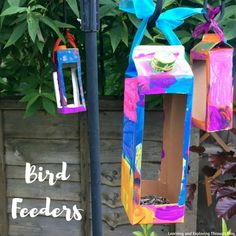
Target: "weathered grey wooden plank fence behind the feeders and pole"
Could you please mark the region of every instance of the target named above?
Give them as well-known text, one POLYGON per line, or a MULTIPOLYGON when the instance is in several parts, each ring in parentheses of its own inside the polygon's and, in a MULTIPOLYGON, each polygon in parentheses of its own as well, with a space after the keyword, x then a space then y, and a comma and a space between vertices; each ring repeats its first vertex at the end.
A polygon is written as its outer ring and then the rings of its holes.
MULTIPOLYGON (((0 235, 1 236, 87 236, 90 235, 89 153, 87 144, 86 113, 55 116, 43 111, 23 119, 24 107, 15 100, 0 101, 0 235), (68 181, 59 181, 54 187, 48 182, 26 185, 25 163, 30 162, 54 173, 61 163, 68 163, 68 181), (52 199, 52 208, 74 204, 84 209, 83 220, 65 220, 38 216, 36 218, 11 217, 13 198, 23 198, 23 206, 45 207, 45 198, 52 199), (5 214, 4 214, 5 213, 5 214)), ((137 227, 131 226, 120 203, 120 157, 122 147, 122 101, 107 100, 100 103, 102 206, 105 236, 132 235, 137 227)), ((193 141, 198 140, 197 132, 193 141)), ((148 111, 145 117, 143 151, 144 178, 158 175, 162 142, 162 113, 148 111)), ((197 182, 198 158, 191 162, 196 172, 190 180, 197 182)), ((193 212, 188 213, 186 224, 176 230, 196 229, 197 195, 193 212)), ((175 227, 155 226, 158 236, 167 235, 175 227)))

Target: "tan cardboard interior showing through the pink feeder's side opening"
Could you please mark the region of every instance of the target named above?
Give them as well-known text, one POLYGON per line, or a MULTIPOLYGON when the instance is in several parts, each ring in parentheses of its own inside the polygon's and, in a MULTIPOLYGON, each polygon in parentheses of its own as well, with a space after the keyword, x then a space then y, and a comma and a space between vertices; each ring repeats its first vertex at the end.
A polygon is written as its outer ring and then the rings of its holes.
POLYGON ((193 61, 194 73, 193 118, 205 121, 207 104, 207 67, 206 61, 193 61))

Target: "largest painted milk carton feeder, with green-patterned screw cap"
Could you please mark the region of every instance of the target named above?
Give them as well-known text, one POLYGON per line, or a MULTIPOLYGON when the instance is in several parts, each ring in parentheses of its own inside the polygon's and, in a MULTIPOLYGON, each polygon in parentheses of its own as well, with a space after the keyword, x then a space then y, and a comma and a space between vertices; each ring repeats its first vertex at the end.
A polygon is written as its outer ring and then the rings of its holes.
POLYGON ((137 75, 125 79, 121 200, 131 224, 181 223, 188 175, 193 73, 183 46, 138 46, 133 61, 137 75), (159 179, 143 180, 145 97, 154 94, 164 96, 161 168, 159 179), (166 201, 161 205, 143 204, 146 196, 166 201))

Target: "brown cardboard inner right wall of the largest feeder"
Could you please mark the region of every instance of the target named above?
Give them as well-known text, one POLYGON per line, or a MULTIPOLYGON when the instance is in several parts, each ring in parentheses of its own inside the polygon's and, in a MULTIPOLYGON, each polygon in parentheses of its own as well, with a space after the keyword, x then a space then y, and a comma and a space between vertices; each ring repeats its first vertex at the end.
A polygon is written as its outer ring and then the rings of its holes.
POLYGON ((162 176, 164 175, 168 199, 171 202, 177 202, 180 194, 186 99, 186 95, 177 94, 166 95, 164 98, 163 146, 165 157, 161 164, 160 181, 163 182, 162 176))

